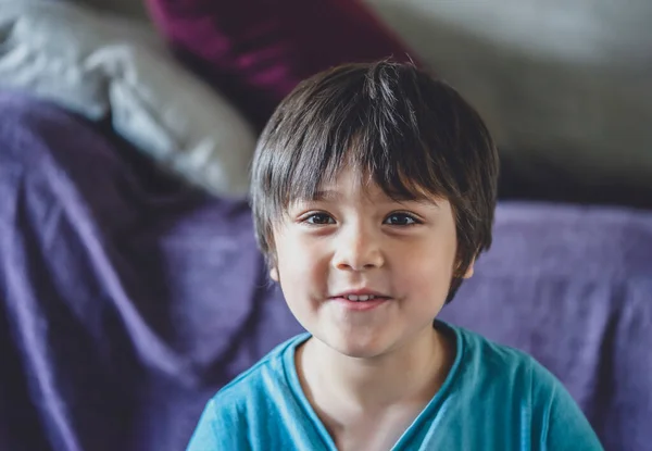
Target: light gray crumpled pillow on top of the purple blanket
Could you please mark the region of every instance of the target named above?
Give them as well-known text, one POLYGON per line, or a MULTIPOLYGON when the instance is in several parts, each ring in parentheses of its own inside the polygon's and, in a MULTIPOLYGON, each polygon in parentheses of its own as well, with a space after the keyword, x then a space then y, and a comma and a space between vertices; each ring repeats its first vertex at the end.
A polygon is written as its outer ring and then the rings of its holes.
POLYGON ((0 9, 0 88, 27 91, 115 130, 191 183, 243 196, 255 135, 186 72, 146 23, 74 3, 13 0, 0 9))

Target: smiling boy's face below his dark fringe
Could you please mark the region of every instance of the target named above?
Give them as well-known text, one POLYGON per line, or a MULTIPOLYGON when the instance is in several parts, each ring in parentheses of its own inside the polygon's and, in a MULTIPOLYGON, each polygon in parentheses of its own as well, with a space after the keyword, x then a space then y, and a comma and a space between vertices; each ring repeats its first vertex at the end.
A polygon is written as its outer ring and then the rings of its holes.
POLYGON ((272 277, 297 320, 356 358, 429 337, 456 263, 450 203, 392 201, 350 171, 321 189, 321 199, 290 204, 274 229, 272 277))

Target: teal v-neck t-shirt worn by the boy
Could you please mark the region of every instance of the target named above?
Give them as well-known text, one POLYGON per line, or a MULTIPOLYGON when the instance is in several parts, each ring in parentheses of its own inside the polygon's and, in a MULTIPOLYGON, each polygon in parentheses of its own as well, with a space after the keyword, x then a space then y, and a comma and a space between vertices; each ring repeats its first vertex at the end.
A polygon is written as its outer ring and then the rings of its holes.
MULTIPOLYGON (((602 450, 562 384, 529 355, 437 322, 456 356, 440 390, 392 448, 413 450, 602 450)), ((273 350, 209 401, 189 451, 336 451, 310 405, 294 351, 273 350)))

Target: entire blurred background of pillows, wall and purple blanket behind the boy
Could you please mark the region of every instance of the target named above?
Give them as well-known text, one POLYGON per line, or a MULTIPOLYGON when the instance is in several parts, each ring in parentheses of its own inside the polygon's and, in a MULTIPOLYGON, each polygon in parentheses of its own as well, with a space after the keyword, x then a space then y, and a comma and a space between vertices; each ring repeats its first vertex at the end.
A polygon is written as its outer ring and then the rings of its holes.
POLYGON ((0 449, 183 449, 301 330, 247 204, 301 79, 413 60, 501 153, 442 318, 523 349, 607 450, 652 443, 652 2, 0 0, 0 449))

